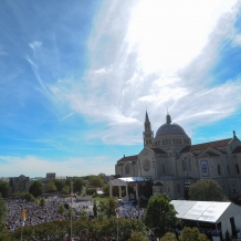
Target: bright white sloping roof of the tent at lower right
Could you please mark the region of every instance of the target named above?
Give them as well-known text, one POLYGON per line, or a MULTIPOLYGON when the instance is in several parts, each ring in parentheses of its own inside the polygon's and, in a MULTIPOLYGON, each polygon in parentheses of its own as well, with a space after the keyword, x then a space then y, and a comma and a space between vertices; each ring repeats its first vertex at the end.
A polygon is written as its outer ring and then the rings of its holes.
POLYGON ((170 203, 179 219, 216 223, 241 214, 241 207, 232 202, 172 200, 170 203))

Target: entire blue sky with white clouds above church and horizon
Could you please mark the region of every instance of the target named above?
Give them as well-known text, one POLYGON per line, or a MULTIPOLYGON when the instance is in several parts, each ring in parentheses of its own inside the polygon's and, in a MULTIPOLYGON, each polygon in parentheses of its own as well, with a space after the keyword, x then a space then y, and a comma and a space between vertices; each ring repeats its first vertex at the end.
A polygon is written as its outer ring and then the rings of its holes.
POLYGON ((241 1, 0 2, 0 177, 114 174, 154 133, 241 138, 241 1))

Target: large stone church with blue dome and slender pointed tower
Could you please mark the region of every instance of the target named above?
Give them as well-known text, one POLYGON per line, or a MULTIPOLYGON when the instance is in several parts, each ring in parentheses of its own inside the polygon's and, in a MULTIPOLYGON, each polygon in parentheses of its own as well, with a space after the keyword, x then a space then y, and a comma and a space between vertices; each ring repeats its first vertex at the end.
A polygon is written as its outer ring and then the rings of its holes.
POLYGON ((146 113, 143 138, 144 149, 119 159, 115 175, 150 179, 154 195, 166 192, 170 199, 187 199, 189 186, 199 179, 216 180, 226 197, 241 196, 241 142, 235 132, 232 138, 191 145, 169 114, 154 136, 146 113))

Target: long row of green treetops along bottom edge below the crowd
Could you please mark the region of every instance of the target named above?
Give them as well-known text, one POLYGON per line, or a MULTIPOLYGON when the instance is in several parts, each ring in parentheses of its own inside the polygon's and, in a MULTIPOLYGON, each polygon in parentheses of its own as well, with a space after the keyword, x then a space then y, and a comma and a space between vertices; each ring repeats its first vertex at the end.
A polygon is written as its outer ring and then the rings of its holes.
MULTIPOLYGON (((115 218, 105 221, 73 221, 73 235, 88 237, 90 240, 97 237, 98 240, 104 240, 104 237, 116 233, 116 227, 117 220, 115 218)), ((142 232, 143 234, 146 232, 146 227, 138 220, 119 219, 118 228, 119 241, 128 240, 133 231, 142 232)), ((63 240, 65 233, 70 235, 70 221, 53 221, 34 227, 24 227, 23 240, 31 240, 33 235, 36 240, 41 240, 49 235, 51 241, 59 241, 63 240)), ((11 241, 20 240, 21 229, 9 233, 9 237, 11 241)))

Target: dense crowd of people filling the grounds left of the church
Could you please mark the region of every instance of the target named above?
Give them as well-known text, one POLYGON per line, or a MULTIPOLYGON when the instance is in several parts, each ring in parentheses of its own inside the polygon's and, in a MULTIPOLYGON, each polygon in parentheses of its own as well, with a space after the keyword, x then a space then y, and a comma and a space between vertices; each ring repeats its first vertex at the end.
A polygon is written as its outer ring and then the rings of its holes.
MULTIPOLYGON (((93 201, 76 202, 75 200, 71 201, 70 198, 52 197, 46 199, 44 207, 21 199, 9 199, 6 202, 8 209, 7 227, 10 232, 15 231, 23 224, 22 207, 24 207, 27 217, 24 226, 36 226, 43 222, 70 219, 66 213, 61 214, 57 212, 61 205, 64 207, 73 207, 73 219, 80 219, 83 210, 88 214, 90 219, 94 218, 93 201)), ((119 206, 118 218, 142 219, 144 214, 145 210, 143 208, 134 207, 132 203, 123 203, 119 206)))

